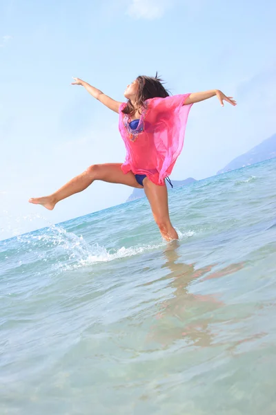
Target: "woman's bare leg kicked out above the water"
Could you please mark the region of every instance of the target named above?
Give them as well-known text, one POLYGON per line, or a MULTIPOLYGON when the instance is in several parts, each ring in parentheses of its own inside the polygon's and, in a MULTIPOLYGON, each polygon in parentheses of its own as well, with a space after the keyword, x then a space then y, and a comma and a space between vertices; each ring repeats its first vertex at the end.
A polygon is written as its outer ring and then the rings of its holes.
POLYGON ((121 163, 107 163, 92 165, 85 172, 79 174, 79 176, 72 178, 66 185, 57 190, 57 192, 49 196, 32 198, 29 202, 35 205, 43 205, 46 209, 53 210, 57 202, 66 199, 66 197, 72 194, 82 192, 95 180, 142 188, 137 183, 135 175, 132 172, 128 172, 127 174, 122 172, 121 163))

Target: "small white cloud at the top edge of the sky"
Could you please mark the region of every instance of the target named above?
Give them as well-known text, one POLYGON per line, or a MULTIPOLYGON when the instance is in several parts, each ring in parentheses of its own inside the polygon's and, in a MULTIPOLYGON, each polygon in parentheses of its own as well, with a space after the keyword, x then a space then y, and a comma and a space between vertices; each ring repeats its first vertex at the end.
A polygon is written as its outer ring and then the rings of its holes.
POLYGON ((127 13, 134 19, 154 20, 162 17, 172 6, 172 0, 132 0, 127 13))

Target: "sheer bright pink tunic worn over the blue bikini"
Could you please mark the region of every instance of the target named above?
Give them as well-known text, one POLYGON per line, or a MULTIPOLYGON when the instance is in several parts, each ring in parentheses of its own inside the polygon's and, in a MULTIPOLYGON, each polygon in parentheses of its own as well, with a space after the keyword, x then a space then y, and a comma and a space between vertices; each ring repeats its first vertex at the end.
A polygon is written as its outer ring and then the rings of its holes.
POLYGON ((188 113, 192 104, 183 105, 190 94, 151 98, 137 129, 129 126, 130 116, 119 108, 119 131, 126 145, 126 160, 121 169, 124 174, 146 174, 156 185, 164 185, 181 153, 188 113))

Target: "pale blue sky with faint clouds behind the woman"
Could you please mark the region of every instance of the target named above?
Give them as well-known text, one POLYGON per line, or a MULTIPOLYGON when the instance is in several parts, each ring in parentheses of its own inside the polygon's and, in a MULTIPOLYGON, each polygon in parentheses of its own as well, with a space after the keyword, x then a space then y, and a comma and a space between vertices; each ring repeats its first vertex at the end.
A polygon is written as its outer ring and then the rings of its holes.
POLYGON ((214 175, 276 131, 275 1, 101 0, 0 3, 0 239, 124 202, 132 189, 94 183, 54 211, 30 205, 93 163, 123 162, 116 100, 159 71, 172 93, 221 89, 190 111, 172 179, 214 175))

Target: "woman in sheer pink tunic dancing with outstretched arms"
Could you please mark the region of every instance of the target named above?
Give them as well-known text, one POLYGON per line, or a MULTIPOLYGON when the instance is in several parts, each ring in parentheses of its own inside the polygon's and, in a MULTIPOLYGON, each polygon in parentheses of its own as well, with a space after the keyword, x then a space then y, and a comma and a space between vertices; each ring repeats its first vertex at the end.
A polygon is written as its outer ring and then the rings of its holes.
POLYGON ((119 113, 119 130, 127 152, 125 163, 91 165, 57 192, 29 202, 52 210, 57 202, 82 192, 95 180, 144 187, 162 237, 166 241, 178 239, 170 223, 165 179, 183 147, 190 107, 215 95, 222 106, 224 100, 235 106, 235 100, 219 90, 170 96, 156 75, 137 77, 124 92, 128 102, 122 103, 79 78, 74 80, 72 85, 84 86, 92 97, 119 113))

